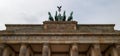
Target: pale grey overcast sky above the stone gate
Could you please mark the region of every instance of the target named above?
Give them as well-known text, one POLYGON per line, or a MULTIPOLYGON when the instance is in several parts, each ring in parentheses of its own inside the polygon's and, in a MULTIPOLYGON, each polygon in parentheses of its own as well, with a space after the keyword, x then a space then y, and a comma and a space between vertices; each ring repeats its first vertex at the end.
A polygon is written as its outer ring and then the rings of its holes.
POLYGON ((73 11, 79 24, 116 24, 120 30, 120 0, 0 0, 0 29, 4 24, 42 24, 58 5, 67 15, 73 11))

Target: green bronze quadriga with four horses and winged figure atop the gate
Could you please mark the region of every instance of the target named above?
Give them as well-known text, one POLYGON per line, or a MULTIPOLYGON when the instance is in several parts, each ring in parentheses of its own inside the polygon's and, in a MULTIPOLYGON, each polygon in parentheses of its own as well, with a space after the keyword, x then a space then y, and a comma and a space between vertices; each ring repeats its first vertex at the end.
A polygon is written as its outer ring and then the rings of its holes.
POLYGON ((68 19, 66 19, 66 11, 63 12, 63 15, 61 15, 61 13, 60 13, 61 12, 61 7, 62 6, 57 6, 59 14, 56 11, 54 18, 51 15, 51 13, 48 12, 49 21, 72 21, 73 20, 73 12, 71 12, 70 16, 68 17, 68 19))

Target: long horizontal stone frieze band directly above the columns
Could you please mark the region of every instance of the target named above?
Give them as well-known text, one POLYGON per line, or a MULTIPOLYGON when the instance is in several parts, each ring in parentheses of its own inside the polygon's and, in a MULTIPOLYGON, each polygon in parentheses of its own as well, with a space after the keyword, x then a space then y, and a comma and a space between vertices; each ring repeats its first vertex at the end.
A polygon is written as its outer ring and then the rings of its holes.
POLYGON ((120 43, 120 36, 1 36, 0 43, 120 43))

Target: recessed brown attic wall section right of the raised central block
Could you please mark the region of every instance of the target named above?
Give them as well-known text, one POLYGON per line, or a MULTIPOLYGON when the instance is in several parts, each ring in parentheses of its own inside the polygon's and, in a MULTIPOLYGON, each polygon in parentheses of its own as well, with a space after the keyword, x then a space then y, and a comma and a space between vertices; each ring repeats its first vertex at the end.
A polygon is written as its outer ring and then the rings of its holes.
POLYGON ((80 32, 114 32, 114 24, 79 24, 80 32))

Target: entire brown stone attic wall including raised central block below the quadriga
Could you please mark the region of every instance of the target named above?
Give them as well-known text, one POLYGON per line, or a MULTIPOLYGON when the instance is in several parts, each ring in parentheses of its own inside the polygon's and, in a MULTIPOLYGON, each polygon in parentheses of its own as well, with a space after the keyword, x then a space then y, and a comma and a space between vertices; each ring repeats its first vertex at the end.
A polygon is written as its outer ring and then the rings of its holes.
POLYGON ((114 24, 77 24, 70 22, 48 22, 41 24, 6 24, 6 30, 42 30, 42 31, 74 31, 74 32, 115 32, 114 24))

